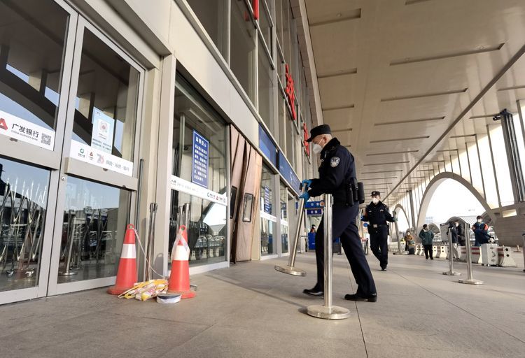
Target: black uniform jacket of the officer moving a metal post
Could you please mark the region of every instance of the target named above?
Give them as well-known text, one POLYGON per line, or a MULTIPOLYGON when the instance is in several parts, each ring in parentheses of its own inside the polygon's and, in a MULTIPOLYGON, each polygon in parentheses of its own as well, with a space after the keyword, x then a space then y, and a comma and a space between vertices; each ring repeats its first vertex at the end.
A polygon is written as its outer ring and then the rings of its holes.
POLYGON ((308 194, 332 194, 334 203, 346 203, 346 186, 351 178, 356 178, 353 155, 337 138, 332 138, 321 150, 319 178, 311 180, 308 194))

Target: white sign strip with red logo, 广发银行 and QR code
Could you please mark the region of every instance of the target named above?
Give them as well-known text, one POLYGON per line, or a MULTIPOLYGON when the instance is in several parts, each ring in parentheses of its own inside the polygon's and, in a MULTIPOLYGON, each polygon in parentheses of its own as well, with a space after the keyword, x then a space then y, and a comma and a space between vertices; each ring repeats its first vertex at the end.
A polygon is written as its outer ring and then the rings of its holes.
POLYGON ((22 120, 3 110, 0 110, 0 134, 47 150, 55 148, 55 131, 22 120))

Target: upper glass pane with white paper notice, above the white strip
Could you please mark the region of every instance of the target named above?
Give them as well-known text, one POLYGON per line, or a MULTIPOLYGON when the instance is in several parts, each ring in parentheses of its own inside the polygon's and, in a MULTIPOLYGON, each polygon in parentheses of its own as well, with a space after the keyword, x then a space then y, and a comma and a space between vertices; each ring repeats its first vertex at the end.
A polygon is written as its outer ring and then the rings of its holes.
POLYGON ((73 141, 133 161, 139 71, 85 29, 73 141))

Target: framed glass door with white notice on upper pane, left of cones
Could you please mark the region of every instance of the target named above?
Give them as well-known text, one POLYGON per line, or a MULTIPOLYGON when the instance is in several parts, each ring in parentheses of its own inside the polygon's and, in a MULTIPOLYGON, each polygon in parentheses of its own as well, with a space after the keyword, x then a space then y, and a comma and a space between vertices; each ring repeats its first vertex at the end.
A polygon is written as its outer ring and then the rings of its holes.
POLYGON ((138 186, 144 69, 78 18, 49 294, 112 285, 138 186))

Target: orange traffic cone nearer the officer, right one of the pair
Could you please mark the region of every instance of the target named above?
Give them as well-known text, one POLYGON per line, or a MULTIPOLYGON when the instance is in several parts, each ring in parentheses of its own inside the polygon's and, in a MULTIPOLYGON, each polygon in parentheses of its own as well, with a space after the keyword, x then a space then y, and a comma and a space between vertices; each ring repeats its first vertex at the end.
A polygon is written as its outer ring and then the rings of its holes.
POLYGON ((181 294, 182 299, 195 297, 195 292, 190 289, 189 258, 188 231, 181 225, 172 249, 172 273, 169 275, 168 293, 181 294))

